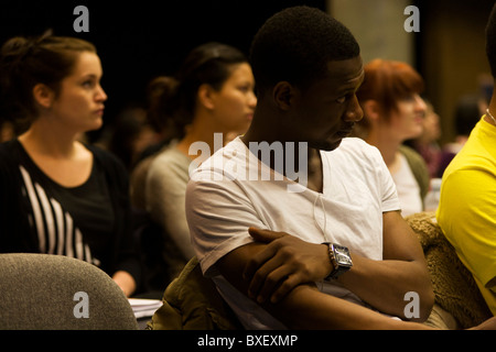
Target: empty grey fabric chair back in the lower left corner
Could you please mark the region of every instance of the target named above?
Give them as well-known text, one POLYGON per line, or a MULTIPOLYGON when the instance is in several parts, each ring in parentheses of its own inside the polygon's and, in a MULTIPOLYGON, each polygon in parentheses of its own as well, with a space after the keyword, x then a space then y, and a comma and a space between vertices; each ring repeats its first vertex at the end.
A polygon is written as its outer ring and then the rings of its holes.
POLYGON ((62 255, 0 254, 0 329, 136 330, 132 308, 98 267, 62 255))

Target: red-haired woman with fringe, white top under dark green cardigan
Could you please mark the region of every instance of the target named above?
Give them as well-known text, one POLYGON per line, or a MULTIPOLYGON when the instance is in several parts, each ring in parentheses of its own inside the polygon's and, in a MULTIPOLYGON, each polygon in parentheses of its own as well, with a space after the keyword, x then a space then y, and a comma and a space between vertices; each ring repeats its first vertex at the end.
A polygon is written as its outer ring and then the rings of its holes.
POLYGON ((364 119, 356 133, 380 151, 395 180, 403 217, 424 209, 429 190, 425 162, 402 144, 422 133, 427 110, 422 90, 422 77, 408 64, 374 59, 365 66, 365 79, 357 91, 364 119))

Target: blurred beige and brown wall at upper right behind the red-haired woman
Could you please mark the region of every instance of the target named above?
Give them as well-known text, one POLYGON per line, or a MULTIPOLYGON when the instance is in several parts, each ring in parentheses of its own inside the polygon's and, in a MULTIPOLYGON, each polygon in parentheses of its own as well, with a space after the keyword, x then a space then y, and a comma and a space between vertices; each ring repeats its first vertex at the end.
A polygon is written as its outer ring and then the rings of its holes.
POLYGON ((327 0, 327 9, 357 37, 364 62, 403 61, 425 79, 425 97, 440 114, 442 142, 454 138, 455 106, 464 95, 488 95, 493 79, 484 30, 493 0, 327 0), (420 14, 420 32, 403 29, 408 6, 420 14), (489 79, 488 79, 489 78, 489 79))

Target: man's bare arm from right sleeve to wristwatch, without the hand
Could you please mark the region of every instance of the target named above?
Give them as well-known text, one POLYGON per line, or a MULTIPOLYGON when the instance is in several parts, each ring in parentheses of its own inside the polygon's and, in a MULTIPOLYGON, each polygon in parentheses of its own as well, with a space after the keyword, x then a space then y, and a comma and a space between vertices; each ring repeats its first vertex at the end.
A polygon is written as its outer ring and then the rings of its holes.
POLYGON ((418 294, 419 319, 424 321, 434 304, 434 293, 422 248, 400 212, 382 215, 382 261, 370 261, 354 255, 354 267, 343 275, 341 282, 362 300, 374 308, 402 319, 405 295, 418 294))

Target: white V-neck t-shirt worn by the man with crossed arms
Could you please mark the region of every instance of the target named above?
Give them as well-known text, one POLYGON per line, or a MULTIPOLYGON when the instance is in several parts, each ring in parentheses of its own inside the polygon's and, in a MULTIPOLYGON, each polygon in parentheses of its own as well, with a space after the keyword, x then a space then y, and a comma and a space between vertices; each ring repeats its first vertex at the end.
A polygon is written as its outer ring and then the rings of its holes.
MULTIPOLYGON (((345 139, 336 150, 321 152, 321 158, 322 194, 270 169, 239 138, 191 175, 186 217, 196 255, 247 329, 284 328, 216 270, 220 257, 252 242, 249 227, 284 231, 312 243, 335 242, 382 260, 382 212, 400 207, 379 151, 360 139, 345 139), (260 175, 268 174, 271 179, 262 180, 260 175)), ((365 306, 337 283, 319 287, 365 306)))

